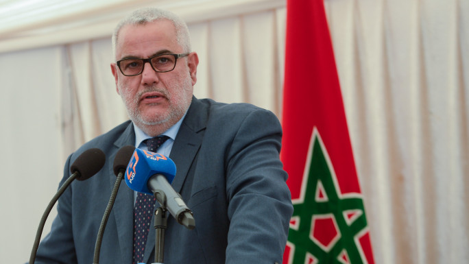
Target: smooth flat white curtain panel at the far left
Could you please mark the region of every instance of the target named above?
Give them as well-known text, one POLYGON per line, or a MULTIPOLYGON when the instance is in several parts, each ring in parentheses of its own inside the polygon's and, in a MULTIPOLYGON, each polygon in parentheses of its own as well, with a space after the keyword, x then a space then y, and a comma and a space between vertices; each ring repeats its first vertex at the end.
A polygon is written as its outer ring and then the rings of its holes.
POLYGON ((63 58, 62 47, 0 54, 1 263, 29 260, 61 178, 63 58))

